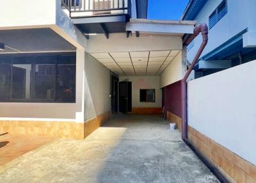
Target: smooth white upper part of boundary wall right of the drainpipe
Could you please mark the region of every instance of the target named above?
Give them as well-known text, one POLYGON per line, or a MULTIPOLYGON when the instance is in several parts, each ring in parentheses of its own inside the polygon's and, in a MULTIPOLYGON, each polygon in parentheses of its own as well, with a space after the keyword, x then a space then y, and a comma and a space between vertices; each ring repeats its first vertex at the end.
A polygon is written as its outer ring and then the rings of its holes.
POLYGON ((188 83, 188 124, 256 164, 256 61, 188 83))

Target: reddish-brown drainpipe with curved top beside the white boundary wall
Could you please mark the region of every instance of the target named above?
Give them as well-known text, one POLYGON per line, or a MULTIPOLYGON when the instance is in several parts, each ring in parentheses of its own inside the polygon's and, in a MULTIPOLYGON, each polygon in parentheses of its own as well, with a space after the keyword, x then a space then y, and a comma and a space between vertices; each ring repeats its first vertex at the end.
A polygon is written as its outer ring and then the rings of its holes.
POLYGON ((207 24, 196 24, 194 28, 194 33, 191 35, 188 40, 186 40, 184 45, 189 45, 199 33, 203 36, 203 42, 196 53, 194 60, 192 61, 191 65, 189 66, 184 78, 181 81, 181 95, 182 95, 182 139, 188 138, 188 122, 187 122, 187 79, 189 74, 195 67, 196 62, 198 61, 200 55, 204 51, 205 46, 208 42, 208 26, 207 24))

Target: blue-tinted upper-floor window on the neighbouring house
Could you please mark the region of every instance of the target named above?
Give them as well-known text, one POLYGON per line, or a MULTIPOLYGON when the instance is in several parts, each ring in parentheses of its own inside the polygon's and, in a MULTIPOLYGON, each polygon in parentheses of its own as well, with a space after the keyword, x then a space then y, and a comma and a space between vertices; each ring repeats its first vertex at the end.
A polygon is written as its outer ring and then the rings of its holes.
POLYGON ((227 14, 227 0, 224 0, 220 5, 211 13, 209 17, 209 29, 213 28, 218 21, 227 14))

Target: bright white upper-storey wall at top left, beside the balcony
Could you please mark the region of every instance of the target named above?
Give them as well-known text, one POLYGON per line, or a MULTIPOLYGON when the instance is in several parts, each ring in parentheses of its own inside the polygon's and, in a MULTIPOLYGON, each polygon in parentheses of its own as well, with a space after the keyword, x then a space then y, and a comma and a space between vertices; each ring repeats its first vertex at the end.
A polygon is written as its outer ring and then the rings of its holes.
POLYGON ((3 1, 0 17, 0 29, 51 28, 77 48, 86 47, 83 34, 62 10, 61 0, 3 1))

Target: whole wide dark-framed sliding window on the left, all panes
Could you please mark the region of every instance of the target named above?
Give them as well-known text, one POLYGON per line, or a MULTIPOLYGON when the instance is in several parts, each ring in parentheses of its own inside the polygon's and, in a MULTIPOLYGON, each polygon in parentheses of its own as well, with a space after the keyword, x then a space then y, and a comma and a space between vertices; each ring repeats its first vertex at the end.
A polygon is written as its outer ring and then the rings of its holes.
POLYGON ((75 102, 76 55, 0 56, 2 102, 75 102))

